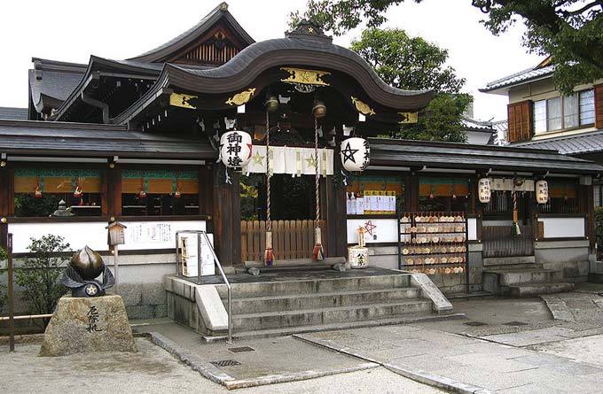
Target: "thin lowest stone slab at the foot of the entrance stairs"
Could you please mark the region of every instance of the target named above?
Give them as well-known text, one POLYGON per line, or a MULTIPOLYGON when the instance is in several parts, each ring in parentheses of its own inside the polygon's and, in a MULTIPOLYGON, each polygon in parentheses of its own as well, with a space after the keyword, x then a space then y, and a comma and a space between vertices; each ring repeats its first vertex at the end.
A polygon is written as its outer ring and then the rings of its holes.
MULTIPOLYGON (((253 329, 253 330, 233 330, 233 338, 252 338, 252 337, 270 337, 270 336, 290 336, 293 334, 301 334, 304 332, 319 332, 330 331, 346 328, 363 328, 388 326, 394 324, 410 324, 419 321, 442 321, 451 319, 465 319, 465 313, 441 313, 441 314, 420 314, 418 316, 395 316, 383 319, 373 319, 370 321, 343 321, 338 323, 318 324, 300 327, 286 328, 268 328, 268 329, 253 329)), ((218 336, 203 336, 206 342, 217 342, 226 340, 226 335, 218 336)))

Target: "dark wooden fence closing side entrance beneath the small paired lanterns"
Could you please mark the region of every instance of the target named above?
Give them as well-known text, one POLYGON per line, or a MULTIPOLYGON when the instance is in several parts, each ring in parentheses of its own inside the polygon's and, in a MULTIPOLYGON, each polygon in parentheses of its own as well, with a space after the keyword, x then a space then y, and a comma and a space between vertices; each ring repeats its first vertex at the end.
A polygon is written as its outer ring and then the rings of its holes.
POLYGON ((483 257, 517 257, 534 254, 534 233, 531 226, 520 226, 521 235, 513 235, 509 226, 483 226, 483 257))

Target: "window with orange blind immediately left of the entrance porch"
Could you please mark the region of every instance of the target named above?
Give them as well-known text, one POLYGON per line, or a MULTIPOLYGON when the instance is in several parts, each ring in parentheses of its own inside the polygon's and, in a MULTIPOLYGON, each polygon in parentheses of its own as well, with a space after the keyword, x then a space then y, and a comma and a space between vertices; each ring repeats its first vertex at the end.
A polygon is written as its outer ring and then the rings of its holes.
POLYGON ((198 215, 199 174, 196 171, 124 170, 121 213, 124 216, 198 215))

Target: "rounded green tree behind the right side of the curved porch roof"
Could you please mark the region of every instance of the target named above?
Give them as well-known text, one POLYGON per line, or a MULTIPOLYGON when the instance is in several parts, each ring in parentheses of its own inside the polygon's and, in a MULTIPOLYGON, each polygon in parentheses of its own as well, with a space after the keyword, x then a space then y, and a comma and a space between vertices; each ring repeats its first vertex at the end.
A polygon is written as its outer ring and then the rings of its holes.
POLYGON ((436 91, 419 122, 403 125, 391 136, 412 140, 466 141, 462 114, 472 98, 460 93, 465 79, 445 66, 448 50, 421 37, 410 37, 401 29, 369 28, 351 49, 364 58, 380 77, 398 89, 436 91))

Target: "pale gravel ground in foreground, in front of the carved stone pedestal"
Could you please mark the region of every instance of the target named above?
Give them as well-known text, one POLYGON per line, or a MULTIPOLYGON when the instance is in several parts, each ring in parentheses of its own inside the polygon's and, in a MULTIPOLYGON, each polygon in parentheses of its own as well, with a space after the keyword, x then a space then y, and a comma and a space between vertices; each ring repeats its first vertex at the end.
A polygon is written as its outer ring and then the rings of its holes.
MULTIPOLYGON (((15 353, 9 353, 7 346, 0 346, 0 392, 229 392, 148 340, 138 338, 137 344, 137 353, 88 353, 57 358, 38 357, 39 344, 17 344, 15 353)), ((355 393, 442 392, 381 367, 236 392, 332 393, 334 390, 355 393)))

